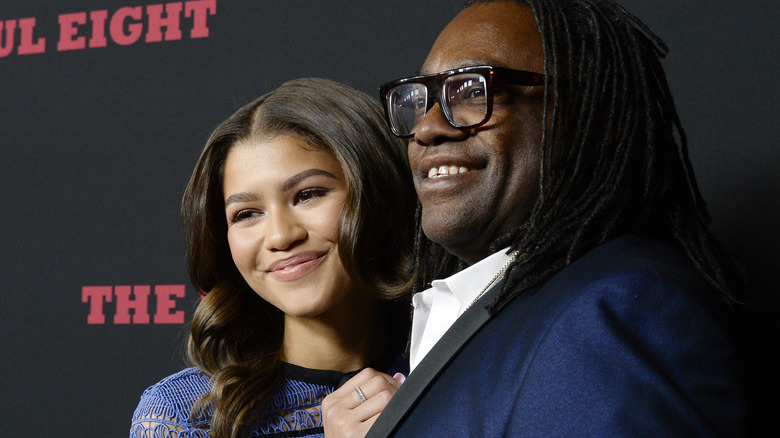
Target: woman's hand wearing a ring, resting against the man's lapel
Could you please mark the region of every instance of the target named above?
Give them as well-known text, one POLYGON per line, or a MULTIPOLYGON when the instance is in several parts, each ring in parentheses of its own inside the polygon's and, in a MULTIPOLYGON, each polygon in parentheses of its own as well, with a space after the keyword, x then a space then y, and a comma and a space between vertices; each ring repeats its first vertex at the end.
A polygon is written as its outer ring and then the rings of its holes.
POLYGON ((366 368, 322 401, 322 425, 327 438, 364 437, 403 383, 403 374, 393 377, 366 368), (356 389, 359 388, 359 389, 356 389), (363 398, 361 398, 361 395, 363 398))

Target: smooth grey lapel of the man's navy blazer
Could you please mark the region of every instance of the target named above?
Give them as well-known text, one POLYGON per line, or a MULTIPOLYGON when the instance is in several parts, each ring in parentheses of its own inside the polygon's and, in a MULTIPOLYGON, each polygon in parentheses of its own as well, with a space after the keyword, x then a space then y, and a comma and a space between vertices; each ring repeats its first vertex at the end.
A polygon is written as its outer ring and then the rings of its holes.
POLYGON ((395 432, 406 415, 417 404, 436 377, 447 367, 455 355, 491 317, 485 307, 501 291, 503 280, 494 284, 444 333, 444 336, 423 358, 414 372, 409 374, 390 403, 377 417, 366 435, 367 438, 386 437, 395 432))

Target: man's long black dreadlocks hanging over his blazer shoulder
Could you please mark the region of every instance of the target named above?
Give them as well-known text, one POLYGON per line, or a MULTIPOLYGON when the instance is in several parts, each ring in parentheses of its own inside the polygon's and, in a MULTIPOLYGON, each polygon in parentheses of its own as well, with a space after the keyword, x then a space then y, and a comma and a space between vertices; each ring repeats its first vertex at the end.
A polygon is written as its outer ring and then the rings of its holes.
MULTIPOLYGON (((486 4, 507 0, 474 0, 486 4)), ((512 1, 512 0, 509 0, 512 1)), ((680 248, 729 305, 741 273, 708 231, 710 217, 660 59, 668 49, 611 0, 525 0, 543 40, 545 123, 540 196, 491 250, 518 250, 495 311, 613 237, 680 248)), ((417 208, 415 291, 465 267, 428 240, 417 208)))

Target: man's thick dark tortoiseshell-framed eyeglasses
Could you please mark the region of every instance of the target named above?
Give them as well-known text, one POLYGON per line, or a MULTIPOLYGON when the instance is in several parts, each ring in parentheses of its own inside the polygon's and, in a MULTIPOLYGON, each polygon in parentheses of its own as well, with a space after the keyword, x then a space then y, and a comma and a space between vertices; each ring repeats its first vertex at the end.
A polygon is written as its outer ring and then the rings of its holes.
POLYGON ((434 100, 450 125, 473 128, 490 119, 494 81, 537 86, 544 80, 541 73, 482 65, 398 79, 379 87, 379 94, 393 134, 409 138, 434 100))

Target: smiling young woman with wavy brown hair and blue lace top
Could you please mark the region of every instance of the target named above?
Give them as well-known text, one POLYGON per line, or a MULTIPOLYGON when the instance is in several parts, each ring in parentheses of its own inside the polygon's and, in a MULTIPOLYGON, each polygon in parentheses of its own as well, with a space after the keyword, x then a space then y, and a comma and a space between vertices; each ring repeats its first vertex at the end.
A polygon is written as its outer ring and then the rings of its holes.
POLYGON ((194 367, 144 392, 130 436, 322 436, 340 383, 402 371, 415 204, 360 91, 294 80, 223 122, 182 202, 194 367))

